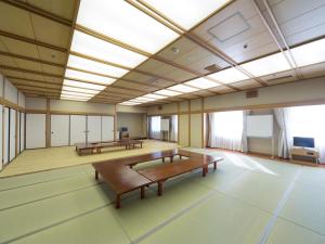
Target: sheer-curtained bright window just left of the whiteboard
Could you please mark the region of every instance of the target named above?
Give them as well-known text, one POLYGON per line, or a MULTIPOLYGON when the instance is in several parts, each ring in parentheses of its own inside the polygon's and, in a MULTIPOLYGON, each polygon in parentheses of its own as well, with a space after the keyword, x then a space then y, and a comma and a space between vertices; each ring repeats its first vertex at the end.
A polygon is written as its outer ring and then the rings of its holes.
POLYGON ((209 146, 240 151, 243 117, 243 111, 209 114, 209 146))

